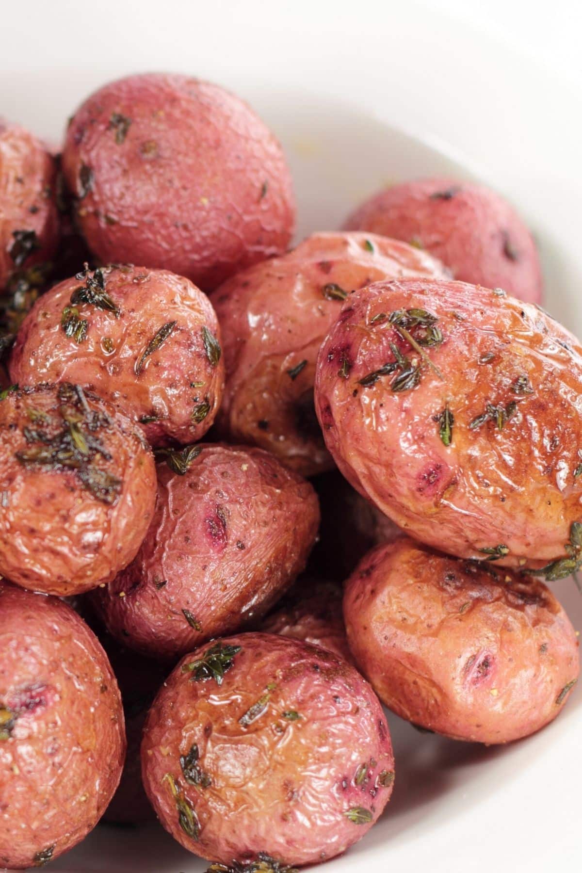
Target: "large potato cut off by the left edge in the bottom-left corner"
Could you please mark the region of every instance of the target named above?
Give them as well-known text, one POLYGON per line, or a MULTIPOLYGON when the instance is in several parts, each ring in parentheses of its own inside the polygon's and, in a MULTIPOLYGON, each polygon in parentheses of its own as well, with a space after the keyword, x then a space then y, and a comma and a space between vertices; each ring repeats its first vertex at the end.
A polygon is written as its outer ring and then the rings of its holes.
POLYGON ((106 654, 66 603, 0 581, 0 650, 0 864, 21 870, 97 824, 126 738, 106 654))

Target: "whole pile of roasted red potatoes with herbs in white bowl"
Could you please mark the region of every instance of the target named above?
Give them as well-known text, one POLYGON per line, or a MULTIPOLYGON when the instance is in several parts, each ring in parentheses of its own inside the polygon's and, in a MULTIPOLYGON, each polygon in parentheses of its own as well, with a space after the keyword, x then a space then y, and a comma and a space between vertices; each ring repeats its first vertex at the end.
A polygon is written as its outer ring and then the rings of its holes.
POLYGON ((577 681, 582 347, 528 230, 455 179, 294 222, 219 86, 113 82, 60 155, 0 122, 0 866, 155 814, 290 873, 398 790, 382 704, 507 743, 577 681))

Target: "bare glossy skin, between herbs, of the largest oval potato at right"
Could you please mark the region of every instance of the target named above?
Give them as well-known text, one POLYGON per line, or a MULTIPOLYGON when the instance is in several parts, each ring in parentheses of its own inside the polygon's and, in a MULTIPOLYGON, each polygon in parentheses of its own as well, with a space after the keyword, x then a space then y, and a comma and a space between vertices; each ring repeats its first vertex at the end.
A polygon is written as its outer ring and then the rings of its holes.
POLYGON ((461 558, 503 545, 508 566, 564 557, 572 522, 582 521, 581 395, 582 348, 571 333, 537 306, 462 282, 404 279, 356 292, 318 359, 319 421, 352 485, 428 545, 461 558), (394 361, 390 342, 415 356, 388 320, 371 320, 417 307, 438 318, 442 344, 425 351, 442 380, 423 363, 415 388, 392 391, 390 375, 361 386, 394 361), (522 376, 531 393, 516 393, 522 376), (469 426, 488 403, 511 402, 503 430, 495 420, 469 426), (449 446, 434 419, 446 404, 449 446))

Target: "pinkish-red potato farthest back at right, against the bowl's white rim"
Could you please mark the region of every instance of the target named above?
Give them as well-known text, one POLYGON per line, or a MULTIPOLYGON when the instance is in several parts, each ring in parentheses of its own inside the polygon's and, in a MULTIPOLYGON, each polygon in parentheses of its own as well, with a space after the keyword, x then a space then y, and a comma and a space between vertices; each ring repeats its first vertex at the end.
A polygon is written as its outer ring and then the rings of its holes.
POLYGON ((503 197, 475 182, 419 179, 363 203, 346 230, 366 230, 420 245, 472 285, 542 299, 542 269, 530 231, 503 197))

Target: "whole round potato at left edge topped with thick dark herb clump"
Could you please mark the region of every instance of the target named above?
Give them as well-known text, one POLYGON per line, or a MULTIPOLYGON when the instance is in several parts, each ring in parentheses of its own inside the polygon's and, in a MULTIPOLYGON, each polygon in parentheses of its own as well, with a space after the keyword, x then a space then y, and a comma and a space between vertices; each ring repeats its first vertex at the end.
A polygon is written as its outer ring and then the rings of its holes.
POLYGON ((56 595, 113 579, 154 512, 154 458, 140 431, 66 382, 0 397, 0 574, 56 595))

